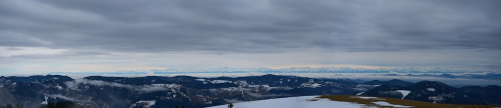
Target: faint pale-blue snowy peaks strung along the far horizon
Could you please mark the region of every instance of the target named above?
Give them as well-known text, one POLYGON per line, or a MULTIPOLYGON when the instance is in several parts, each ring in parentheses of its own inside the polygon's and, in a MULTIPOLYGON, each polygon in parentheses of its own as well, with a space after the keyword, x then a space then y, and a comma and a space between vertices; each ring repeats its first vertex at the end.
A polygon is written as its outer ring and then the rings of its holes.
MULTIPOLYGON (((469 73, 469 75, 481 73, 499 73, 498 71, 486 70, 460 70, 452 68, 353 68, 353 67, 291 67, 281 69, 271 68, 212 68, 212 69, 177 69, 142 70, 142 71, 118 71, 118 72, 51 72, 49 74, 77 74, 77 75, 146 75, 152 74, 196 74, 196 73, 469 73)), ((499 75, 499 74, 498 74, 499 75)), ((464 76, 467 77, 468 75, 464 76)))

